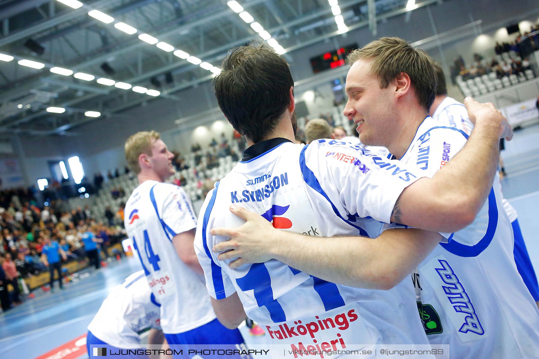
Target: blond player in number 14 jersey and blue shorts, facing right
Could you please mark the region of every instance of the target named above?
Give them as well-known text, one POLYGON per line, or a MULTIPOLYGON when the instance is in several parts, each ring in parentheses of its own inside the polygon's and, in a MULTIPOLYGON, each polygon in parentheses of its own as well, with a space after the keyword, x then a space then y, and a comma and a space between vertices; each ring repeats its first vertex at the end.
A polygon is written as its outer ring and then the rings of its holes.
MULTIPOLYGON (((239 330, 219 323, 205 292, 193 247, 197 220, 191 201, 181 187, 164 183, 174 174, 174 154, 155 131, 129 137, 125 152, 139 179, 126 202, 125 226, 161 304, 161 327, 169 346, 230 344, 235 348, 243 337, 239 330)), ((183 357, 189 357, 187 350, 183 357)))

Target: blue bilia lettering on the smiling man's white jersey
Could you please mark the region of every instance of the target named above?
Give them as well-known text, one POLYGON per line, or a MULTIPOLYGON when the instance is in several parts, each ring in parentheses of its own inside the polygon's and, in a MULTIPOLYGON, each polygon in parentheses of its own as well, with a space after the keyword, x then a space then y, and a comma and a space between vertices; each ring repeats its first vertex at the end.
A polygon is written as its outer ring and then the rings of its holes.
POLYGON ((461 333, 472 332, 478 335, 485 334, 485 330, 481 326, 478 315, 475 313, 472 301, 469 299, 464 286, 459 281, 457 274, 453 271, 453 268, 444 261, 444 259, 438 259, 438 262, 442 268, 435 268, 447 286, 443 286, 444 292, 447 294, 447 299, 453 304, 455 312, 467 314, 464 323, 459 329, 461 333))

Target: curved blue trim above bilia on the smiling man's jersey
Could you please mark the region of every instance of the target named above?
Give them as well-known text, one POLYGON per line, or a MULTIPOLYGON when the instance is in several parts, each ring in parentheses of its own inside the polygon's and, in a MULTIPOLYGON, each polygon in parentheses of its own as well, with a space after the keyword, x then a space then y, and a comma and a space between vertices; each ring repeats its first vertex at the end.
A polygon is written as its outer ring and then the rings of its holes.
POLYGON ((488 195, 488 226, 485 236, 483 236, 483 238, 481 238, 481 240, 474 245, 466 245, 457 241, 440 243, 440 245, 448 252, 459 257, 477 257, 488 247, 490 242, 492 242, 492 238, 494 238, 494 234, 496 233, 497 224, 498 207, 496 206, 496 195, 494 194, 494 188, 492 188, 490 189, 490 193, 488 195))

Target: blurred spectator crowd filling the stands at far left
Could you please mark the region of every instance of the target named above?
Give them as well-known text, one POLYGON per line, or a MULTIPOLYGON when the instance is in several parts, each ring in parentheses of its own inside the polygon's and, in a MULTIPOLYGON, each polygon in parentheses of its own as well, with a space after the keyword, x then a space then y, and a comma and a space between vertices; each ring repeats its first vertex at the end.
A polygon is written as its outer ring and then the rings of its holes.
MULTIPOLYGON (((88 232, 100 238, 100 250, 105 256, 110 245, 125 238, 121 227, 96 221, 88 206, 69 210, 66 202, 58 200, 39 208, 29 190, 0 192, 0 291, 7 293, 7 285, 11 284, 15 291, 13 302, 17 304, 20 279, 47 271, 42 249, 54 241, 65 252, 65 263, 88 262, 83 238, 88 232)), ((0 301, 4 310, 9 309, 11 300, 4 297, 0 301)))

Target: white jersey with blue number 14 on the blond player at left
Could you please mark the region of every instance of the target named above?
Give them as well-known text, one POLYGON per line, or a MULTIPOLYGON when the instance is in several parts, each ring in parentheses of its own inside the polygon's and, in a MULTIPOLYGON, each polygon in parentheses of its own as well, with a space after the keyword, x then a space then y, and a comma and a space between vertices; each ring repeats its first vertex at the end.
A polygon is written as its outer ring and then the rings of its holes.
POLYGON ((182 262, 172 244, 176 234, 197 226, 183 189, 143 182, 127 200, 125 226, 151 291, 161 303, 163 333, 183 333, 215 319, 203 276, 182 262))

